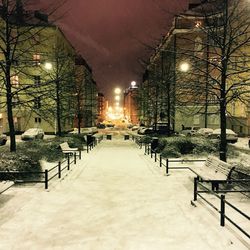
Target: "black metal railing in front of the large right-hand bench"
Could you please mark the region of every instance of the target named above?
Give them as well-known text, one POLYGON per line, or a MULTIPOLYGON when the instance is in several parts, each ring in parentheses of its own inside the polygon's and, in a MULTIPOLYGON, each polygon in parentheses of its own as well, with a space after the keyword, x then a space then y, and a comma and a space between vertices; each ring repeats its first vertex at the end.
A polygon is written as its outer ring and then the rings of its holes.
MULTIPOLYGON (((242 181, 248 181, 250 182, 249 179, 240 179, 240 180, 230 180, 230 183, 239 183, 242 181)), ((220 214, 220 225, 222 227, 225 226, 225 220, 228 220, 232 225, 234 225, 237 229, 239 229, 244 235, 246 235, 250 239, 250 234, 246 232, 241 226, 239 226, 238 223, 233 221, 227 214, 226 214, 226 205, 228 205, 230 208, 232 208, 234 211, 236 211, 238 214, 243 216, 245 219, 250 221, 250 216, 247 215, 246 213, 242 212, 239 208, 234 206, 232 203, 228 202, 225 198, 225 194, 219 195, 218 193, 229 193, 229 192, 250 192, 250 190, 217 190, 217 191, 212 191, 209 188, 207 188, 205 185, 203 185, 202 182, 211 182, 209 180, 199 180, 198 177, 194 178, 194 201, 197 201, 197 197, 199 196, 203 201, 205 201, 208 205, 210 205, 215 211, 217 211, 220 214), (203 190, 198 190, 198 187, 202 187, 203 190), (209 193, 214 195, 220 200, 220 208, 217 208, 212 202, 208 201, 202 194, 204 193, 209 193)), ((225 180, 225 183, 228 182, 225 180)))

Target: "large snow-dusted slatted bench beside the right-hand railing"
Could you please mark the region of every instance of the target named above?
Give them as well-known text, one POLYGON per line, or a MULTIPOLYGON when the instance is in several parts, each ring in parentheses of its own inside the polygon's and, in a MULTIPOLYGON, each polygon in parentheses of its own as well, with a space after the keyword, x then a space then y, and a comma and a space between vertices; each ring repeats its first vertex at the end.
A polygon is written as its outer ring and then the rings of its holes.
POLYGON ((203 166, 190 168, 199 181, 209 181, 212 184, 212 190, 219 190, 220 183, 230 183, 232 173, 235 167, 219 160, 214 156, 208 156, 203 166))

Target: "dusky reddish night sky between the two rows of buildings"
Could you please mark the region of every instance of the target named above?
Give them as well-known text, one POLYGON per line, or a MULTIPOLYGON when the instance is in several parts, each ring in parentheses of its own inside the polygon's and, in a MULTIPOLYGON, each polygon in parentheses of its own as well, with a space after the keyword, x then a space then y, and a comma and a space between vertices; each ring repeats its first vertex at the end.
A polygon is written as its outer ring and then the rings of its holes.
MULTIPOLYGON (((36 0, 43 7, 56 0, 36 0)), ((68 0, 58 22, 93 69, 100 90, 111 97, 117 86, 140 81, 138 60, 147 58, 142 45, 154 44, 166 33, 172 15, 188 0, 68 0)))

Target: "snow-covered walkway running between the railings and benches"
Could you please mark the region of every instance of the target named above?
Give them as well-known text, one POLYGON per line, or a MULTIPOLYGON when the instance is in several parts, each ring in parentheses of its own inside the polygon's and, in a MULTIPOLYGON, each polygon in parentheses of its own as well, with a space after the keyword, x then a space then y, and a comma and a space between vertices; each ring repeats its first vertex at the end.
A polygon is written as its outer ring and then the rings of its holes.
POLYGON ((16 186, 0 196, 0 249, 249 249, 207 205, 190 204, 192 178, 166 176, 122 135, 104 140, 48 191, 16 186))

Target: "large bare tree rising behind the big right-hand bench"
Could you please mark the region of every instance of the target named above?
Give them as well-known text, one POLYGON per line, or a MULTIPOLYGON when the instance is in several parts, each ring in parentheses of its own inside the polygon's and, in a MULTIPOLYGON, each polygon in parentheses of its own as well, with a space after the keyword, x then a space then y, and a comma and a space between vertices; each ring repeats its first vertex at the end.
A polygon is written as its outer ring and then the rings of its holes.
POLYGON ((200 18, 196 26, 199 37, 182 36, 183 42, 193 45, 195 50, 184 46, 177 51, 177 56, 188 60, 191 66, 190 72, 180 77, 182 82, 177 89, 177 98, 178 94, 182 96, 182 100, 178 98, 182 105, 199 105, 205 114, 209 102, 217 105, 221 128, 220 158, 224 161, 227 109, 232 102, 247 105, 250 97, 248 5, 240 0, 201 4, 194 10, 200 18), (184 100, 183 96, 186 97, 184 100))

